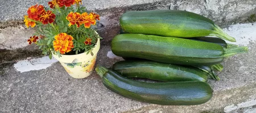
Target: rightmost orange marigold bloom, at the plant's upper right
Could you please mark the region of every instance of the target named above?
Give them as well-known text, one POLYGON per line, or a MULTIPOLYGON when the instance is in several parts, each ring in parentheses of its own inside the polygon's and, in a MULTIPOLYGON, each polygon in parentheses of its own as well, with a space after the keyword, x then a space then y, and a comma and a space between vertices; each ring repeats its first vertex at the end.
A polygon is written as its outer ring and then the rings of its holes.
POLYGON ((96 24, 96 20, 94 19, 94 16, 91 13, 88 15, 87 12, 84 12, 82 13, 81 17, 82 20, 84 20, 83 23, 85 28, 90 28, 90 24, 96 24))

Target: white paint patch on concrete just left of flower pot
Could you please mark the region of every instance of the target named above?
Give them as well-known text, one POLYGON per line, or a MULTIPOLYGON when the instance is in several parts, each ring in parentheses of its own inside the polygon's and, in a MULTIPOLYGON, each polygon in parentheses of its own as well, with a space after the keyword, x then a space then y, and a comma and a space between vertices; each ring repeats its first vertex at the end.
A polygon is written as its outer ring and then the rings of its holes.
POLYGON ((56 59, 49 59, 49 56, 43 56, 42 58, 21 60, 14 64, 14 67, 19 72, 27 72, 32 70, 46 69, 51 66, 52 63, 58 62, 56 59))

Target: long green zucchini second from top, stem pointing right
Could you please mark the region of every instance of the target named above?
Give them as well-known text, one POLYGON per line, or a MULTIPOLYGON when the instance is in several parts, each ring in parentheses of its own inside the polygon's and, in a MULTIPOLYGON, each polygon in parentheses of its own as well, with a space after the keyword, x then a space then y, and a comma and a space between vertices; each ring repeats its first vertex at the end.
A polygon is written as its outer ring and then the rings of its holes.
POLYGON ((117 56, 193 66, 218 64, 224 56, 247 51, 247 47, 224 50, 209 42, 146 34, 118 34, 112 40, 111 49, 117 56))

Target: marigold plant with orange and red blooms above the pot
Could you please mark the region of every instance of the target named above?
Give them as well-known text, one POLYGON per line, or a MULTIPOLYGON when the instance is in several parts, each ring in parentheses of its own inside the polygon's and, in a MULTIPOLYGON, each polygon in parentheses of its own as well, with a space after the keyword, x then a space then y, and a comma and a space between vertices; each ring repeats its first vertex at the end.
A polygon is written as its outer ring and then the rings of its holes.
POLYGON ((28 44, 35 43, 50 58, 52 54, 87 52, 93 55, 92 50, 101 37, 91 25, 100 20, 100 15, 88 12, 81 6, 81 0, 52 0, 48 5, 48 8, 42 5, 28 8, 24 23, 27 28, 37 28, 28 44))

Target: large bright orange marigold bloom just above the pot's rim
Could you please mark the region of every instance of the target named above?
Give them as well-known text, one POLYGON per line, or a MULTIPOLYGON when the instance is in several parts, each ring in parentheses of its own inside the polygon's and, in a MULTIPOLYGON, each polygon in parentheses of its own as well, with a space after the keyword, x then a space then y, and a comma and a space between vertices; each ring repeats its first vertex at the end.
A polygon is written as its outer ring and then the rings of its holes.
POLYGON ((68 35, 67 33, 57 34, 55 37, 55 41, 53 41, 53 47, 55 51, 60 51, 61 54, 68 53, 74 47, 73 45, 73 37, 68 35))

